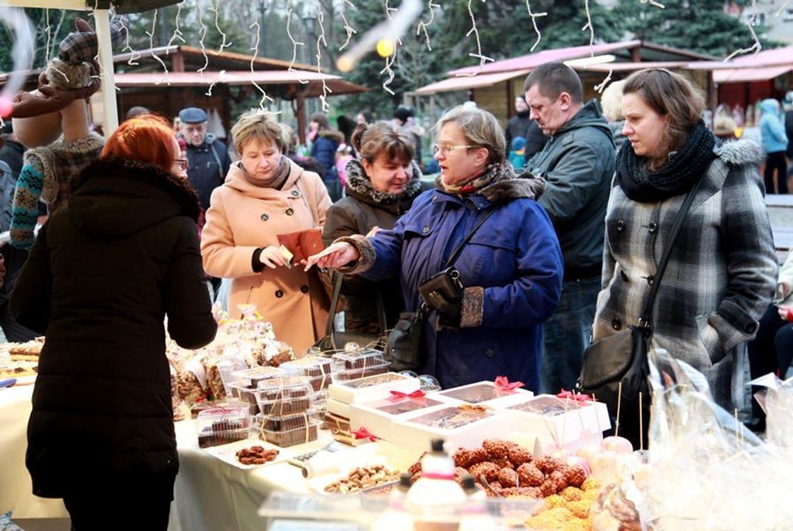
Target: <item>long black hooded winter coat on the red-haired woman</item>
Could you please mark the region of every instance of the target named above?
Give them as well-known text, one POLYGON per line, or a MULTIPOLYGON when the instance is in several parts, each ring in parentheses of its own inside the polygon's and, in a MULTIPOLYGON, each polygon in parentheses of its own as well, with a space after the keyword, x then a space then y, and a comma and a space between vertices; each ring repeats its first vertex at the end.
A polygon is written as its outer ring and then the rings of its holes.
POLYGON ((196 194, 178 177, 98 160, 40 230, 11 298, 17 321, 47 336, 28 424, 33 494, 121 480, 173 498, 164 319, 184 348, 216 333, 197 216, 196 194))

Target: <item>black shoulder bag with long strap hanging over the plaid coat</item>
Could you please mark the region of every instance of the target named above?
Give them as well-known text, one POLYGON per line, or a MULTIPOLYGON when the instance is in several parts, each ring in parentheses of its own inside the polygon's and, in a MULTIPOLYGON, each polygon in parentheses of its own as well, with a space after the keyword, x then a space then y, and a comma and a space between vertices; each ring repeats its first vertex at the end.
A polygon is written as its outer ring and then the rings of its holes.
MULTIPOLYGON (((584 351, 584 364, 576 383, 577 392, 594 394, 598 401, 607 404, 612 418, 615 418, 619 394, 620 391, 622 392, 619 414, 621 418, 616 419, 619 422, 619 435, 633 442, 636 448, 639 446, 639 393, 642 393, 642 418, 645 435, 649 426, 651 397, 649 394, 647 345, 653 336, 653 303, 658 293, 658 287, 661 285, 669 255, 672 253, 672 246, 680 233, 680 227, 683 225, 702 180, 699 179, 694 184, 683 205, 680 206, 675 225, 672 225, 669 243, 661 256, 653 288, 650 290, 638 325, 631 325, 623 332, 603 337, 603 339, 590 344, 584 351)), ((647 441, 646 437, 644 441, 647 441)))

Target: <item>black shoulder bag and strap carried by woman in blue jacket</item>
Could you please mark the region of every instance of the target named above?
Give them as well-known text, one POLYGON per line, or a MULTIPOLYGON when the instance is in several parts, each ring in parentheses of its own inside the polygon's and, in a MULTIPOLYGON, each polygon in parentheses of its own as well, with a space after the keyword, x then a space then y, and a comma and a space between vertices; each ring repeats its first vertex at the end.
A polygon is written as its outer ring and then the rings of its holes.
MULTIPOLYGON (((483 223, 490 217, 495 209, 491 209, 482 216, 468 236, 463 238, 457 248, 452 251, 449 258, 443 264, 443 270, 419 286, 419 291, 440 291, 454 292, 460 291, 462 294, 462 283, 460 283, 460 273, 453 267, 454 260, 457 260, 462 248, 479 230, 483 223)), ((451 297, 447 297, 451 298, 451 297)), ((399 321, 394 329, 389 333, 385 340, 385 356, 388 358, 392 371, 416 371, 424 364, 427 356, 423 350, 423 327, 430 308, 426 302, 422 302, 416 312, 402 312, 399 321)))

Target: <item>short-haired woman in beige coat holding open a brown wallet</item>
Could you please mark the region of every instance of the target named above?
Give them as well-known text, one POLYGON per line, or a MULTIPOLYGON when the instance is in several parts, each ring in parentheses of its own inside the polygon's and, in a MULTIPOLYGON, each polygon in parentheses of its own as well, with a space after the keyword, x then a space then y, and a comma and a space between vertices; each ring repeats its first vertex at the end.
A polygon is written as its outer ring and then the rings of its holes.
POLYGON ((321 227, 331 199, 319 175, 282 155, 281 127, 272 115, 243 114, 232 138, 240 160, 212 193, 201 234, 204 269, 233 279, 233 317, 239 304, 255 304, 275 337, 303 356, 324 333, 328 296, 316 273, 286 267, 278 234, 321 227))

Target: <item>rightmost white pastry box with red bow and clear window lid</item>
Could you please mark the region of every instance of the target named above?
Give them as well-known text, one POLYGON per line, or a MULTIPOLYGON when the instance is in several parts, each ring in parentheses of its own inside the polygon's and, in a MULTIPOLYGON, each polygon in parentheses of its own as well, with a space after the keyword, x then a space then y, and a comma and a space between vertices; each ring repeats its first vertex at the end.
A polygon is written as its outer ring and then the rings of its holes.
POLYGON ((598 443, 611 419, 603 402, 559 398, 538 394, 504 410, 511 430, 536 435, 543 449, 563 447, 575 451, 587 443, 598 443))

